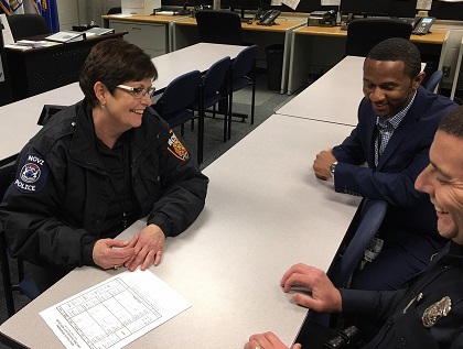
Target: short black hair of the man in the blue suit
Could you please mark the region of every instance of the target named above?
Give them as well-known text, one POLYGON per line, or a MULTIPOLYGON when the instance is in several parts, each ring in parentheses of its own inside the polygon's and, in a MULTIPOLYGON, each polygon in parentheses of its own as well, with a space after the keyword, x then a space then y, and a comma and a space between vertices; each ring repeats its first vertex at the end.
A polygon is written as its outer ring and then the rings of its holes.
POLYGON ((421 72, 421 55, 417 46, 409 40, 391 37, 373 47, 367 58, 375 61, 402 61, 405 73, 413 79, 421 72))

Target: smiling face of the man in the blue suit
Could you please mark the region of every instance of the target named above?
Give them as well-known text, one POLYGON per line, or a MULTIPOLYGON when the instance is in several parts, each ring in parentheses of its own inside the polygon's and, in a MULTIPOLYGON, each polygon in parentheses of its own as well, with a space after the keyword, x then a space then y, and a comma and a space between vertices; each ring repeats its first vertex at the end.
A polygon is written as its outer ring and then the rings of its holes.
POLYGON ((423 73, 411 79, 402 61, 376 61, 364 63, 364 95, 375 113, 390 119, 410 102, 424 77, 423 73))

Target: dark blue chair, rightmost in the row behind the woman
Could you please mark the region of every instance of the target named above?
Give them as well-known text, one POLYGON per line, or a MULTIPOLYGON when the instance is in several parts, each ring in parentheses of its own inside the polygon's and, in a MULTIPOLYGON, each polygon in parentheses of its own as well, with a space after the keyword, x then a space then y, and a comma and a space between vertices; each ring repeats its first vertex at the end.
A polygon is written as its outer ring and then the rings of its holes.
MULTIPOLYGON (((251 124, 254 123, 254 112, 256 103, 256 57, 257 45, 248 46, 243 50, 232 63, 229 84, 228 84, 228 124, 227 138, 232 137, 233 94, 241 88, 251 86, 251 124)), ((238 117, 247 117, 239 116, 238 117)))

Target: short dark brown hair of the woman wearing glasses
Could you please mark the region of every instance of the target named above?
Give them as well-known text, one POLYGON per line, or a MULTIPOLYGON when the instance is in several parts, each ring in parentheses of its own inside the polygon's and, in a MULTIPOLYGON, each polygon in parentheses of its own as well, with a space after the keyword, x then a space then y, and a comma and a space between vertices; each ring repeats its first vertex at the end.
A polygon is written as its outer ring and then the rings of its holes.
POLYGON ((121 39, 104 40, 96 44, 80 70, 79 85, 91 107, 98 105, 94 86, 105 84, 112 95, 116 87, 127 81, 157 79, 158 70, 140 47, 121 39))

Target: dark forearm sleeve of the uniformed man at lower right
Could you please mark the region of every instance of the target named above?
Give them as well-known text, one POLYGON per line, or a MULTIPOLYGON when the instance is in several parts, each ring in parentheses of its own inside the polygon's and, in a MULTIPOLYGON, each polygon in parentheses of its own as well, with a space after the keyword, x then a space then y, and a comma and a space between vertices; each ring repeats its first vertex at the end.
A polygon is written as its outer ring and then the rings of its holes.
POLYGON ((364 291, 340 288, 343 314, 365 315, 376 320, 386 320, 403 297, 406 290, 364 291))

